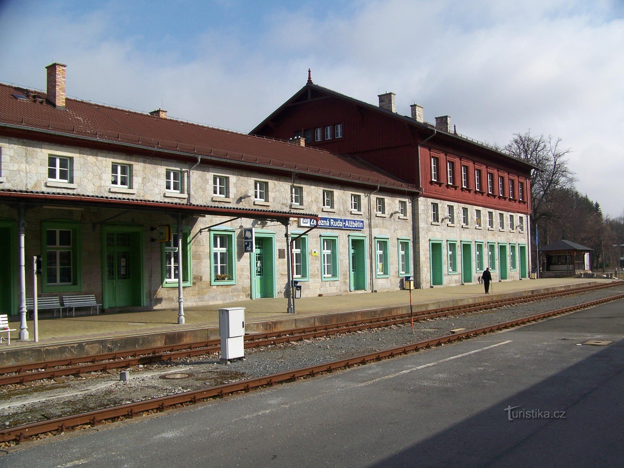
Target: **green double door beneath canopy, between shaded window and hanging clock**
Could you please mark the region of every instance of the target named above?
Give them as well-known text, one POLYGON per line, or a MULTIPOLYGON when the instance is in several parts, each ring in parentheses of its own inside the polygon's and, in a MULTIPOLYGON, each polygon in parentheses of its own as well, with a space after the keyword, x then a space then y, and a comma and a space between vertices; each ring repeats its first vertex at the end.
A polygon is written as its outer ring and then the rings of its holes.
POLYGON ((105 307, 142 305, 139 232, 106 233, 105 307))

